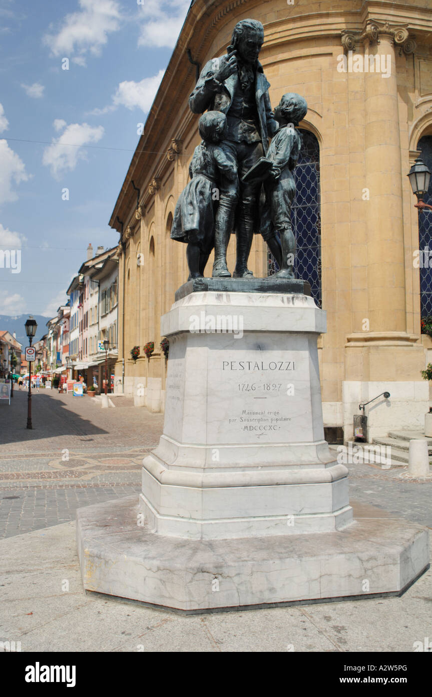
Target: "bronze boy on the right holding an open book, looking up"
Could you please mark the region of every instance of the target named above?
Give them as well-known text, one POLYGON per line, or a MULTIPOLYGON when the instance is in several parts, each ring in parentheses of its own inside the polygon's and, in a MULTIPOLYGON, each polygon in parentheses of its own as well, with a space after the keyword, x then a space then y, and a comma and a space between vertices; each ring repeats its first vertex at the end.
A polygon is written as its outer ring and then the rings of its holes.
MULTIPOLYGON (((291 205, 296 193, 293 171, 296 167, 301 149, 301 135, 298 123, 305 118, 307 102, 295 93, 283 95, 275 109, 275 118, 279 123, 266 159, 272 163, 269 176, 264 181, 266 203, 261 219, 260 232, 264 240, 269 240, 276 233, 280 235, 282 245, 282 266, 273 277, 294 278, 294 254, 296 238, 291 227, 291 205)), ((277 259, 277 261, 279 261, 277 259)))

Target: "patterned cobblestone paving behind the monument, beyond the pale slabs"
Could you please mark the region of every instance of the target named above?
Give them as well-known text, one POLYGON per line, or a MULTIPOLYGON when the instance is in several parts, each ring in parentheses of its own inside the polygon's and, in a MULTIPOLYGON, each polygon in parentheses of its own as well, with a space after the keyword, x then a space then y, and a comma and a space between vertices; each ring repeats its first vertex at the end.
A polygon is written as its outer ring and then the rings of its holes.
MULTIPOLYGON (((81 506, 140 491, 142 460, 159 442, 163 415, 126 397, 109 409, 54 391, 32 401, 33 430, 25 392, 0 404, 0 537, 73 521, 81 506)), ((432 477, 411 480, 404 466, 349 470, 353 502, 432 528, 432 477)))

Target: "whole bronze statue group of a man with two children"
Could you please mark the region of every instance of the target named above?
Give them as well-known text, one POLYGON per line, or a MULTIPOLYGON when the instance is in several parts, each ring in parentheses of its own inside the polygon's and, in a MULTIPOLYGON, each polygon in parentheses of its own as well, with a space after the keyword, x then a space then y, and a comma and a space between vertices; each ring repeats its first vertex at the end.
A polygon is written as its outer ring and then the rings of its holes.
POLYGON ((202 114, 202 142, 195 148, 191 181, 177 201, 171 228, 171 238, 188 245, 189 279, 203 276, 213 247, 212 276, 231 276, 227 246, 232 230, 237 237, 234 278, 253 279, 248 257, 253 235, 260 232, 280 267, 276 275, 294 279, 292 173, 301 149, 296 127, 307 103, 287 93, 273 114, 270 85, 258 61, 263 41, 261 22, 238 22, 227 54, 205 65, 189 98, 191 110, 202 114))

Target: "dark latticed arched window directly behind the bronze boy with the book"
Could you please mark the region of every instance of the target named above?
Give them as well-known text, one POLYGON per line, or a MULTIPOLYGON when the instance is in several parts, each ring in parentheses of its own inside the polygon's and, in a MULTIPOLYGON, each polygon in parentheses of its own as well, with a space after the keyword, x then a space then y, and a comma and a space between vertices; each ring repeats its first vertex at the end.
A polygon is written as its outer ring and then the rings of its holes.
MULTIPOLYGON (((296 196, 291 208, 291 223, 297 243, 294 270, 297 278, 310 283, 312 298, 318 307, 322 307, 319 143, 310 131, 299 130, 303 145, 294 170, 296 196)), ((269 276, 277 270, 278 264, 269 253, 269 276)))

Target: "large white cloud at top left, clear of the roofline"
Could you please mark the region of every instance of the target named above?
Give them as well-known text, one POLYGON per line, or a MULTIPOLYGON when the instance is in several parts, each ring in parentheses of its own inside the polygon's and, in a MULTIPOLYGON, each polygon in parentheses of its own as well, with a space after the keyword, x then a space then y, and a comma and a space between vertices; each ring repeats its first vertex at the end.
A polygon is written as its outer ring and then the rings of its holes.
POLYGON ((109 33, 120 28, 120 6, 116 0, 79 0, 80 10, 66 15, 61 26, 47 33, 43 42, 53 56, 74 56, 79 65, 85 65, 84 56, 101 54, 109 33))

